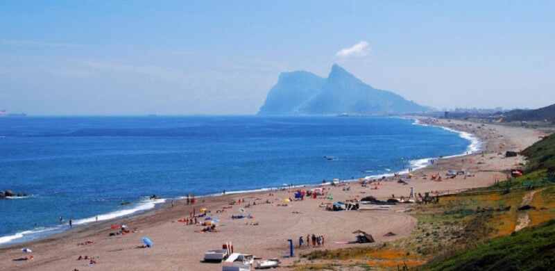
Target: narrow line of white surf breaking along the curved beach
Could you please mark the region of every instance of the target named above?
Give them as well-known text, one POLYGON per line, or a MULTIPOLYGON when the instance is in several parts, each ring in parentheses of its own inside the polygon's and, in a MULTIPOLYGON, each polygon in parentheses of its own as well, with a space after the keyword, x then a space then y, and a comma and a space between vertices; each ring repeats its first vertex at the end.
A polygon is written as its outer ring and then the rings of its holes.
MULTIPOLYGON (((413 122, 412 123, 413 125, 436 127, 439 129, 450 131, 452 133, 456 133, 457 135, 459 135, 460 138, 468 140, 469 142, 468 147, 466 151, 463 151, 461 154, 413 159, 408 162, 409 168, 405 168, 403 170, 399 170, 396 172, 368 175, 361 179, 374 180, 374 179, 381 179, 383 177, 390 178, 393 176, 409 174, 410 171, 418 171, 418 170, 425 169, 426 167, 429 167, 430 165, 432 165, 431 161, 437 161, 438 159, 467 156, 467 155, 475 154, 480 150, 481 140, 477 138, 477 136, 473 135, 472 133, 467 133, 465 131, 458 131, 456 129, 450 129, 445 126, 425 124, 420 122, 420 120, 422 120, 422 117, 418 117, 418 116, 400 117, 400 118, 405 120, 411 120, 413 122)), ((340 181, 345 183, 350 183, 350 182, 356 182, 358 180, 359 179, 344 179, 340 181)), ((256 188, 253 190, 232 190, 232 191, 226 191, 225 195, 249 195, 249 194, 254 194, 258 192, 278 191, 282 189, 291 189, 291 188, 316 188, 321 186, 330 186, 331 183, 332 182, 330 181, 325 183, 324 182, 304 183, 304 184, 291 184, 290 186, 281 186, 281 187, 256 188)), ((215 194, 212 193, 207 195, 198 195, 198 196, 195 196, 195 198, 205 199, 210 197, 221 197, 221 196, 223 196, 223 193, 215 193, 215 194)), ((163 208, 164 206, 169 204, 169 202, 180 201, 182 199, 186 199, 186 196, 160 198, 160 199, 155 199, 154 201, 149 199, 143 199, 142 201, 135 203, 133 208, 123 208, 120 210, 114 210, 108 213, 99 214, 98 221, 96 221, 96 216, 85 217, 78 220, 74 220, 74 225, 76 225, 75 228, 77 228, 77 227, 85 227, 90 224, 99 223, 99 222, 115 222, 117 220, 121 220, 125 218, 133 218, 136 215, 143 215, 146 213, 150 213, 151 211, 155 211, 157 208, 163 208)), ((64 224, 58 224, 50 227, 42 227, 42 228, 18 231, 17 233, 13 233, 8 236, 0 236, 0 249, 17 246, 17 245, 25 245, 26 243, 40 241, 40 240, 49 238, 51 236, 63 234, 71 230, 72 228, 70 228, 66 223, 64 223, 64 224), (26 236, 29 236, 29 237, 26 238, 26 236), (18 239, 22 239, 22 238, 23 240, 17 241, 18 239)))

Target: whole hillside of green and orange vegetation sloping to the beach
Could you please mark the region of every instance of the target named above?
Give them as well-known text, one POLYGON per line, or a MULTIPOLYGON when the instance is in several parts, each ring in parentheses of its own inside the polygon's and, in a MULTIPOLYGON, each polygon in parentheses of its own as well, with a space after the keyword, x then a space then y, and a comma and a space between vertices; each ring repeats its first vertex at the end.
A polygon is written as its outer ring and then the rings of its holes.
POLYGON ((522 151, 524 176, 420 204, 411 236, 391 243, 315 251, 294 270, 547 270, 555 266, 555 135, 522 151), (528 211, 519 211, 531 197, 528 211), (525 212, 525 213, 524 213, 525 212), (522 231, 522 215, 529 222, 522 231), (314 263, 316 261, 316 263, 314 263))

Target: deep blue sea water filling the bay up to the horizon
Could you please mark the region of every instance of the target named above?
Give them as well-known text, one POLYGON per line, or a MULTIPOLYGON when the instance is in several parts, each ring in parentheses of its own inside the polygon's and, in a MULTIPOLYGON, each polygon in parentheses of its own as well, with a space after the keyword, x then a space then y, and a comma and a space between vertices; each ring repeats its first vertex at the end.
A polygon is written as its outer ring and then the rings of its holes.
POLYGON ((3 117, 0 190, 31 197, 0 200, 0 245, 67 229, 60 216, 83 224, 162 202, 148 195, 386 174, 469 144, 393 117, 3 117))

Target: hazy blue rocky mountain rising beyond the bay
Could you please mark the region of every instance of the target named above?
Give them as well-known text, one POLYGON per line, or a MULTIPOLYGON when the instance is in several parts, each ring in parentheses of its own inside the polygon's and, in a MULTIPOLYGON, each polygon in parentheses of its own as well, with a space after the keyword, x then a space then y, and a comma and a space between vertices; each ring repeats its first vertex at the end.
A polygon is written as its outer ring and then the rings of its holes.
POLYGON ((427 110, 391 91, 372 88, 339 65, 333 65, 327 79, 309 72, 280 74, 259 115, 388 115, 427 110))

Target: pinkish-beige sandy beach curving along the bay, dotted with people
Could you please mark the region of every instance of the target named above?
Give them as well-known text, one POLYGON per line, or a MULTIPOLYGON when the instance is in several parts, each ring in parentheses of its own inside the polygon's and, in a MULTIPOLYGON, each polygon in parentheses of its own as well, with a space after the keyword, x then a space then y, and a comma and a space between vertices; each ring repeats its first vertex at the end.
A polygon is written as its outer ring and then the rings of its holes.
MULTIPOLYGON (((407 196, 409 188, 415 192, 431 190, 460 190, 489 186, 496 179, 504 179, 506 174, 499 172, 514 167, 522 162, 522 158, 504 158, 497 155, 499 151, 521 150, 543 136, 540 131, 522 129, 518 127, 496 126, 488 124, 477 129, 477 124, 466 122, 442 122, 461 131, 475 133, 485 140, 485 156, 479 154, 441 159, 435 165, 424 170, 414 172, 416 178, 409 181, 409 185, 397 183, 397 179, 382 182, 379 189, 361 187, 358 183, 351 183, 351 190, 344 192, 341 187, 331 188, 334 200, 352 199, 373 195, 385 199, 395 194, 407 196), (479 165, 478 162, 483 164, 479 165), (441 182, 423 180, 422 174, 436 174, 445 176, 445 170, 466 169, 476 174, 475 177, 463 179, 444 179, 441 182)), ((371 187, 371 188, 370 188, 371 187)), ((227 206, 231 199, 244 198, 246 202, 265 202, 270 199, 273 204, 257 204, 246 208, 246 213, 252 214, 254 219, 232 220, 232 214, 239 213, 239 206, 227 209, 225 213, 217 214, 221 220, 221 227, 217 233, 197 233, 201 227, 185 226, 180 222, 173 222, 185 217, 193 206, 185 206, 184 202, 176 202, 176 206, 164 206, 155 211, 119 219, 111 222, 99 222, 87 227, 79 227, 73 231, 52 236, 46 240, 39 240, 24 245, 0 249, 0 270, 221 270, 221 264, 200 263, 203 253, 207 249, 221 248, 226 241, 234 244, 235 252, 243 252, 262 256, 264 258, 282 257, 288 252, 287 239, 298 243, 299 236, 315 233, 325 236, 325 248, 339 248, 356 245, 346 245, 345 241, 353 240, 352 231, 361 229, 374 236, 377 242, 394 240, 409 235, 416 225, 416 219, 402 210, 407 205, 395 206, 391 211, 324 211, 318 207, 325 199, 305 199, 302 202, 292 202, 287 207, 276 206, 282 199, 289 197, 287 191, 275 192, 275 196, 268 196, 268 192, 248 193, 244 195, 225 195, 205 199, 205 203, 194 206, 207 207, 213 213, 223 206, 227 206), (299 213, 293 213, 299 212, 299 213), (246 225, 246 222, 259 222, 258 226, 246 225), (139 233, 125 236, 108 236, 110 224, 123 223, 130 228, 137 228, 139 233), (384 237, 392 231, 393 237, 384 237), (154 247, 150 249, 136 249, 142 245, 141 238, 150 237, 154 247), (78 243, 92 240, 94 244, 78 246, 78 243), (336 243, 338 242, 338 243, 336 243), (12 261, 19 258, 22 247, 33 249, 34 259, 31 261, 12 261), (87 261, 77 261, 80 255, 95 256, 96 265, 89 266, 87 261)), ((303 248, 300 252, 307 252, 303 248)), ((298 253, 299 250, 296 250, 298 253)), ((284 265, 292 263, 293 259, 284 258, 284 265)))

